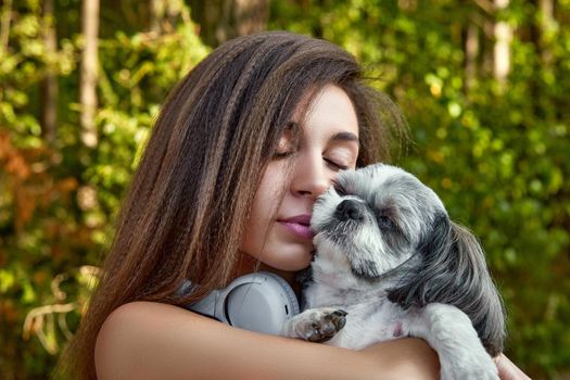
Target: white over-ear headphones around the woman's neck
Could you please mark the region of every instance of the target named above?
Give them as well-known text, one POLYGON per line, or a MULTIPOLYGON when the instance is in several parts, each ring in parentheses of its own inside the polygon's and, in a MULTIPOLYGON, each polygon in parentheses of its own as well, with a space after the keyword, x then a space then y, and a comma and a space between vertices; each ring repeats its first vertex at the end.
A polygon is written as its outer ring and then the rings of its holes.
MULTIPOLYGON (((192 283, 185 281, 178 292, 191 289, 192 283)), ((299 302, 289 283, 268 271, 241 276, 185 307, 230 326, 270 334, 279 334, 283 324, 299 314, 299 302)))

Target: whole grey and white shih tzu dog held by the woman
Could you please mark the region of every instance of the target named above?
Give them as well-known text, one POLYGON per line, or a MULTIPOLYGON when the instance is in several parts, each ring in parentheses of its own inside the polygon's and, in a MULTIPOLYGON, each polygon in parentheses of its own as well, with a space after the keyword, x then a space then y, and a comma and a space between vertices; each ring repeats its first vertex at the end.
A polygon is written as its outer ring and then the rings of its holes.
POLYGON ((305 311, 284 335, 354 350, 421 338, 442 379, 498 379, 503 304, 477 239, 431 189, 384 164, 346 170, 317 199, 311 228, 305 311))

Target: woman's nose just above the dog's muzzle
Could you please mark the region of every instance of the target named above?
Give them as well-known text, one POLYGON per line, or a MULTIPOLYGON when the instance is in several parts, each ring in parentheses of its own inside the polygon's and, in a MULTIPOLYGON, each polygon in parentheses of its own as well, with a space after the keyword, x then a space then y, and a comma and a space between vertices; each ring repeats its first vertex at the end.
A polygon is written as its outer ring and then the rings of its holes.
POLYGON ((292 191, 297 195, 317 198, 332 182, 332 174, 329 172, 320 154, 318 157, 297 157, 292 191))

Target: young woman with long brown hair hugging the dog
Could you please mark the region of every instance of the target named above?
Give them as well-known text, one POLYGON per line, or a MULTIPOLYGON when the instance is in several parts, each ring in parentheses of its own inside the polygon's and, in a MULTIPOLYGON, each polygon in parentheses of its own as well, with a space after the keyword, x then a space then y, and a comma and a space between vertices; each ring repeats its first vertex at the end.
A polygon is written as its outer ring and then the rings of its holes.
POLYGON ((259 268, 295 287, 312 258, 315 199, 339 170, 387 160, 391 138, 403 134, 400 121, 362 83, 354 59, 329 42, 264 33, 216 49, 163 106, 61 373, 436 379, 438 356, 421 340, 354 352, 231 328, 179 307, 259 268), (200 288, 181 299, 175 294, 185 279, 200 288))

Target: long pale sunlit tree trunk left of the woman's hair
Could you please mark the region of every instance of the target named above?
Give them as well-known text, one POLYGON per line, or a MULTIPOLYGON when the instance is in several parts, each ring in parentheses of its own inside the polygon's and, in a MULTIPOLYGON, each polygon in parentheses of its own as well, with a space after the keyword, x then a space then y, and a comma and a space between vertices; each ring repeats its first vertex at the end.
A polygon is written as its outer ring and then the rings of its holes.
POLYGON ((84 0, 81 9, 84 51, 81 54, 80 102, 81 141, 86 147, 98 143, 94 114, 97 110, 97 68, 99 0, 84 0))

